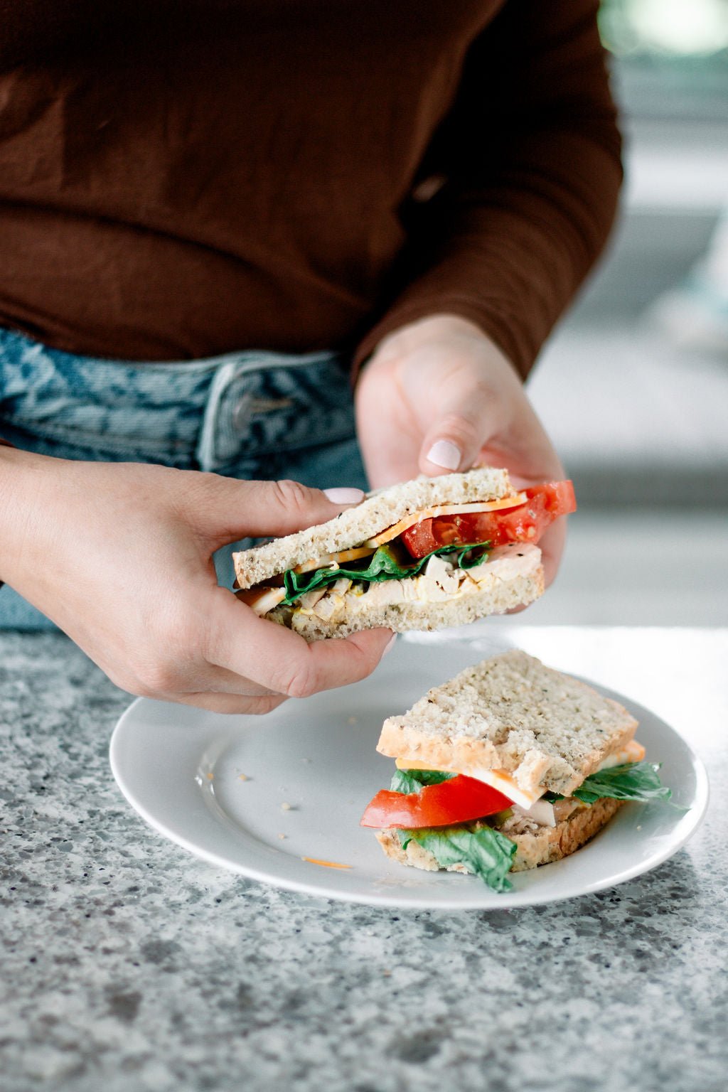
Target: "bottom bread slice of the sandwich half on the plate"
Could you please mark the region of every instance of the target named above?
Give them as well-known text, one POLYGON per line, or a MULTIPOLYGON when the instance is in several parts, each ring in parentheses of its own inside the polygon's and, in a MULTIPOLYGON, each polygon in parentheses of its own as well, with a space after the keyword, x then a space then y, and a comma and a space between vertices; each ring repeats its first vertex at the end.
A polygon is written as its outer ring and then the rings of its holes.
MULTIPOLYGON (((623 800, 600 799, 590 807, 573 812, 568 819, 556 827, 542 827, 537 833, 508 834, 516 844, 516 853, 511 866, 512 873, 526 871, 538 865, 548 865, 574 853, 585 842, 594 838, 623 804, 623 800)), ((414 868, 425 868, 435 871, 441 866, 434 855, 411 841, 407 848, 402 848, 399 834, 393 828, 377 833, 377 841, 387 857, 401 865, 411 865, 414 868)), ((466 865, 450 865, 447 871, 469 873, 466 865)))

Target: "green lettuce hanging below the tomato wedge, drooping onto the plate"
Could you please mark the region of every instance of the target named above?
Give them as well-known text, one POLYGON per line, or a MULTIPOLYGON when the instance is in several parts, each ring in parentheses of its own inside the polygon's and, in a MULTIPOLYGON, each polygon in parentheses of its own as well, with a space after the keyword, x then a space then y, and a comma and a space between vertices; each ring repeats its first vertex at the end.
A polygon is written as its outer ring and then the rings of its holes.
POLYGON ((468 830, 467 827, 422 828, 399 831, 403 850, 417 842, 429 850, 441 868, 467 865, 472 873, 493 891, 510 891, 508 874, 515 855, 515 842, 490 827, 468 830))

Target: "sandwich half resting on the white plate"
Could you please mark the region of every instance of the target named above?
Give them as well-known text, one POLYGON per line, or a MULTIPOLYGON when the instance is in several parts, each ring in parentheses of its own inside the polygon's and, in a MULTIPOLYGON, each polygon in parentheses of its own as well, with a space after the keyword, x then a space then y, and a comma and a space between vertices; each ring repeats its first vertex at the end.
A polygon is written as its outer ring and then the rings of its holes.
POLYGON ((636 727, 586 684, 505 652, 384 722, 377 749, 397 769, 361 824, 403 865, 506 891, 509 873, 574 853, 625 800, 669 799, 636 727))

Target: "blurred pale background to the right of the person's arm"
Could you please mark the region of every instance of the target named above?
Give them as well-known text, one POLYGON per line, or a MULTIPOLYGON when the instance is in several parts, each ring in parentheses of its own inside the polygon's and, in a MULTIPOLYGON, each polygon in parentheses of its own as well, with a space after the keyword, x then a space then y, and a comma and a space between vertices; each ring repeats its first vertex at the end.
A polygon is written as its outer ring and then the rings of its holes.
POLYGON ((529 382, 580 510, 557 583, 514 620, 725 626, 728 0, 604 0, 600 26, 620 222, 529 382))

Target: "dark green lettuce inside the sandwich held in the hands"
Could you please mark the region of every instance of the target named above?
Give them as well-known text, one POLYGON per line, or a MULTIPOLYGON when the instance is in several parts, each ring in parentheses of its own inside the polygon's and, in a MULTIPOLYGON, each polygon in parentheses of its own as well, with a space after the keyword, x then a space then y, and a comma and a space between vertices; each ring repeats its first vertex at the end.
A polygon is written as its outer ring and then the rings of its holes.
POLYGON ((453 561, 461 569, 473 569, 481 565, 488 557, 489 543, 470 543, 465 546, 440 546, 425 557, 405 556, 405 550, 397 549, 392 543, 380 546, 370 557, 351 561, 338 569, 314 569, 312 572, 294 572, 289 569, 284 573, 283 582, 286 597, 283 604, 295 603, 305 592, 312 592, 324 584, 333 584, 339 578, 363 580, 374 583, 381 580, 402 580, 405 577, 416 577, 435 554, 454 554, 453 561), (467 557, 470 550, 476 553, 467 557))

